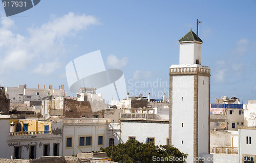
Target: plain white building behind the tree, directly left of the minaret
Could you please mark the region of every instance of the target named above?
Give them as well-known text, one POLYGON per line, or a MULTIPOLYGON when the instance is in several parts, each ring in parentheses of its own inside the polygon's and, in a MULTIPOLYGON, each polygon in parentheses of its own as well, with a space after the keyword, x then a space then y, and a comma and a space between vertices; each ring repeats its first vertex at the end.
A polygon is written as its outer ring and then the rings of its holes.
POLYGON ((168 115, 120 113, 121 143, 129 139, 139 142, 168 144, 168 115))

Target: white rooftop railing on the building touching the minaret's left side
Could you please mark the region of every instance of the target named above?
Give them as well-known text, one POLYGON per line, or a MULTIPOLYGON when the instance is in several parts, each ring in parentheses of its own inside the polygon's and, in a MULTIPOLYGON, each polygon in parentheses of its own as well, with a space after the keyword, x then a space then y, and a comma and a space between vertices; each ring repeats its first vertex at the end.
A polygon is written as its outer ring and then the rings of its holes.
POLYGON ((168 114, 139 114, 139 113, 120 113, 122 119, 156 119, 169 120, 168 114))

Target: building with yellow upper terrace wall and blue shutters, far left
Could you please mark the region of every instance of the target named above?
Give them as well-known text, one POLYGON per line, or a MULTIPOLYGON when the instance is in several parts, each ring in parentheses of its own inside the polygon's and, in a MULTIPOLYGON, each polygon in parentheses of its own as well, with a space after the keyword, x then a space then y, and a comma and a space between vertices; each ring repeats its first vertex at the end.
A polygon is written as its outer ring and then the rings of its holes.
POLYGON ((0 123, 0 158, 62 155, 62 120, 12 119, 6 115, 0 116, 0 123))

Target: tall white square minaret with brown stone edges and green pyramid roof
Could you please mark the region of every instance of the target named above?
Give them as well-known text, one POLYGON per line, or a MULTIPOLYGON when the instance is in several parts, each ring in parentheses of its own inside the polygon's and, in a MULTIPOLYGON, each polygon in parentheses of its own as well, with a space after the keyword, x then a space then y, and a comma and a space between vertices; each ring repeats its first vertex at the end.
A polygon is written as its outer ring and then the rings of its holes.
POLYGON ((189 31, 180 40, 180 64, 169 71, 169 144, 186 162, 209 153, 210 68, 201 65, 203 41, 189 31))

